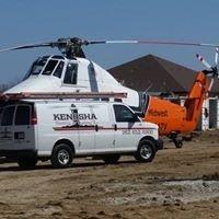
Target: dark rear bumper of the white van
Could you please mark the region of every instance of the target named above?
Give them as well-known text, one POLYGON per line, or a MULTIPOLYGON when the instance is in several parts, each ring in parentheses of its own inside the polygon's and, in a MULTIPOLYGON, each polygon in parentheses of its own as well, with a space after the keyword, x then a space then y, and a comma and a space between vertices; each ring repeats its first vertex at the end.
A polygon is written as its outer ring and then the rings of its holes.
POLYGON ((18 159, 21 157, 36 157, 36 150, 0 150, 0 157, 8 159, 18 159))

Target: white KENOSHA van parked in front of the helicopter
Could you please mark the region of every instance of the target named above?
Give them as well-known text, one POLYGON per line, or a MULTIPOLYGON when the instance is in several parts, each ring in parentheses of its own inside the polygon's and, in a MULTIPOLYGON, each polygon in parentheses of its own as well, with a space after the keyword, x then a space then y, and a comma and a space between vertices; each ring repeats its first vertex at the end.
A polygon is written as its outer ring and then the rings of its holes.
POLYGON ((162 148, 158 126, 119 102, 25 100, 0 112, 0 157, 22 168, 49 159, 53 166, 67 168, 73 158, 88 155, 116 163, 132 154, 150 162, 162 148))

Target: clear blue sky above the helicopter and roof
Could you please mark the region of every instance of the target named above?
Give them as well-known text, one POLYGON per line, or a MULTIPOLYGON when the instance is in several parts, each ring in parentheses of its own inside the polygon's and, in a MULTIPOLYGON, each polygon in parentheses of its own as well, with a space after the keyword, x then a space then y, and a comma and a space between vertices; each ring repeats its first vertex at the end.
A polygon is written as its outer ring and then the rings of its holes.
MULTIPOLYGON (((0 48, 78 36, 88 39, 170 39, 219 43, 218 0, 0 0, 0 48)), ((89 58, 104 68, 153 54, 203 69, 199 53, 212 62, 214 48, 154 45, 95 45, 89 58)), ((30 65, 56 49, 0 54, 0 83, 21 79, 30 65)))

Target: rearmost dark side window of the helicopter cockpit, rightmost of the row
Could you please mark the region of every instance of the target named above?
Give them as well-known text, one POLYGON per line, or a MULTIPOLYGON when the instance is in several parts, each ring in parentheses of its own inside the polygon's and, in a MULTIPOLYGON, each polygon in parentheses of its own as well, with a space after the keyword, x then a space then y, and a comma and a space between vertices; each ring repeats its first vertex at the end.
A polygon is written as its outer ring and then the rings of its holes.
POLYGON ((77 74, 78 74, 78 65, 77 64, 68 64, 68 66, 66 68, 64 83, 77 84, 77 77, 78 77, 77 74))

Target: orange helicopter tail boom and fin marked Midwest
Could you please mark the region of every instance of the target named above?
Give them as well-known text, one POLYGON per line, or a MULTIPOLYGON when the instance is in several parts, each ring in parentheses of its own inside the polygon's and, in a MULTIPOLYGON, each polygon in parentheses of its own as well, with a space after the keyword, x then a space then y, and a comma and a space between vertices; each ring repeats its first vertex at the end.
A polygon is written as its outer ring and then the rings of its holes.
POLYGON ((198 72, 184 106, 150 96, 143 119, 158 124, 160 135, 192 132, 197 126, 209 85, 210 82, 207 76, 204 72, 198 72))

